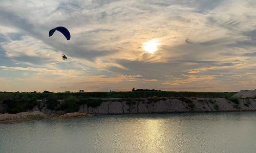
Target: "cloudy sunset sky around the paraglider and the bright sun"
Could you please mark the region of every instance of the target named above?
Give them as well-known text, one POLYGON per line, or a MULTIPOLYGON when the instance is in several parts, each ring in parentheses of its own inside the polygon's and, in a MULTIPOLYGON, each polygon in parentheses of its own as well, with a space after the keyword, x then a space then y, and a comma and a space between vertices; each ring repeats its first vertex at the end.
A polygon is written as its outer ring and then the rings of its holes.
POLYGON ((254 0, 0 0, 0 91, 255 89, 255 20, 254 0))

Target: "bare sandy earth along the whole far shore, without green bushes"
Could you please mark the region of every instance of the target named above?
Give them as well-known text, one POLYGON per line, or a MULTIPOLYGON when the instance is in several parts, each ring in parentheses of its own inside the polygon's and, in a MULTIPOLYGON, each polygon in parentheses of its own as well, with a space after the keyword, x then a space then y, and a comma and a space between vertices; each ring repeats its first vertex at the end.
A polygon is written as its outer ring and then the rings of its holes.
MULTIPOLYGON (((91 104, 91 103, 89 103, 91 104)), ((3 105, 2 105, 3 106, 3 105)), ((1 105, 0 105, 1 108, 1 105)), ((2 107, 3 109, 4 107, 2 107)), ((103 99, 98 105, 80 105, 79 113, 86 114, 135 114, 135 113, 180 113, 180 112, 218 112, 218 111, 256 111, 256 99, 253 98, 122 98, 103 99)), ((25 113, 0 114, 0 120, 32 119, 56 117, 67 113, 65 110, 50 110, 45 100, 25 113)), ((73 114, 79 116, 81 114, 73 114)), ((68 114, 69 116, 69 114, 68 114)), ((68 117, 66 116, 66 117, 68 117)), ((72 115, 71 115, 72 116, 72 115)), ((86 115, 85 115, 86 116, 86 115)), ((63 116, 65 118, 65 116, 63 116)))

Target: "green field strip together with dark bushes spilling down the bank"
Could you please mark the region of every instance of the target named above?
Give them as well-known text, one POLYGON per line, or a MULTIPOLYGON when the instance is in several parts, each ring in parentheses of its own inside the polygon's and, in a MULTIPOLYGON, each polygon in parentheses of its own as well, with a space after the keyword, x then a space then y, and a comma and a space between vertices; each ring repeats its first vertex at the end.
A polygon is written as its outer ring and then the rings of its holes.
MULTIPOLYGON (((97 107, 103 101, 109 101, 108 98, 126 101, 127 104, 133 105, 136 102, 133 98, 147 98, 147 103, 156 103, 158 100, 164 100, 164 97, 179 97, 185 101, 193 110, 193 101, 185 97, 203 97, 203 98, 229 98, 233 103, 237 103, 237 99, 230 98, 236 92, 174 92, 174 91, 136 91, 136 92, 65 92, 53 93, 50 91, 38 92, 0 92, 0 105, 4 104, 8 113, 24 112, 38 105, 36 99, 45 99, 47 108, 50 110, 65 110, 66 112, 76 112, 79 106, 87 104, 89 107, 97 107), (61 103, 57 99, 63 100, 61 103), (1 102, 2 101, 2 102, 1 102)), ((217 108, 216 108, 217 109, 217 108)), ((1 112, 0 112, 1 113, 1 112)))

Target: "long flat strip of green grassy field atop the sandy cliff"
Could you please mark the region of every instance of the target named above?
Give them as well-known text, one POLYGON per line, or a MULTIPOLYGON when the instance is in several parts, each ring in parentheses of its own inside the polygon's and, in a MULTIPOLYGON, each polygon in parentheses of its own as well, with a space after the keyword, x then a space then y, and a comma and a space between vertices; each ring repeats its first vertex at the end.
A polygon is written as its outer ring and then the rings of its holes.
POLYGON ((65 99, 73 96, 83 98, 147 98, 147 97, 202 97, 229 98, 236 92, 175 92, 175 91, 136 91, 136 92, 74 92, 74 93, 0 93, 3 99, 65 99))

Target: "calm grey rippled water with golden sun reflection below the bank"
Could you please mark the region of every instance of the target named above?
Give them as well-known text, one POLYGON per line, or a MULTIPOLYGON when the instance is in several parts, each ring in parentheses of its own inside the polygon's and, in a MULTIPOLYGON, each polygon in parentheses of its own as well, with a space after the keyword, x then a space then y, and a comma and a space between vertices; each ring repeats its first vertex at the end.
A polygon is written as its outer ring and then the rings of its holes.
POLYGON ((256 152, 256 112, 0 124, 0 152, 256 152))

